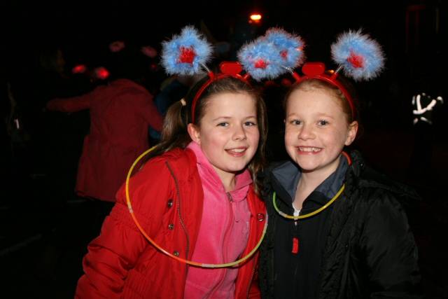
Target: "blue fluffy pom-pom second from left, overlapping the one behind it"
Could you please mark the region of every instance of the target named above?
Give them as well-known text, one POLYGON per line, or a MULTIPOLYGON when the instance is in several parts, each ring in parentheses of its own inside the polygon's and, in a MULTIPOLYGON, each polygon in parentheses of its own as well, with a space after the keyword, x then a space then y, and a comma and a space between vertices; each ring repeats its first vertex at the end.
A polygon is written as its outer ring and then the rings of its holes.
POLYGON ((262 37, 243 46, 238 52, 238 59, 256 81, 276 78, 286 72, 282 67, 279 50, 262 37))

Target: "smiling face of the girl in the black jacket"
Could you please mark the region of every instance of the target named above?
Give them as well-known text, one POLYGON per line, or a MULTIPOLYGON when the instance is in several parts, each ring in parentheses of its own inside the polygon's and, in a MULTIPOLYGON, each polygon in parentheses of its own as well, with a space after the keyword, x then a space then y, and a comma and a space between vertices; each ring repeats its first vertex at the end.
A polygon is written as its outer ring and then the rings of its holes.
POLYGON ((285 146, 302 172, 329 176, 337 169, 344 146, 355 139, 358 123, 348 123, 339 101, 317 88, 297 89, 289 95, 285 146))

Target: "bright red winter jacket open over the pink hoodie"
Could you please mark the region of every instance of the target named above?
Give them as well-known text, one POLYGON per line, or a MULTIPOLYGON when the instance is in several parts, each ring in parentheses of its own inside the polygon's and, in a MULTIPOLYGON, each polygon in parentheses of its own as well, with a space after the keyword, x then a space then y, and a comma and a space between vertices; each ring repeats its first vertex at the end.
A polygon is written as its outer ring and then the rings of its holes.
MULTIPOLYGON (((196 157, 176 148, 150 160, 130 180, 130 199, 137 220, 165 250, 191 259, 202 219, 203 192, 196 157)), ((265 205, 249 189, 251 211, 245 256, 262 235, 265 205)), ((239 267, 235 298, 259 298, 255 283, 258 253, 239 267)), ((85 274, 76 298, 183 298, 188 267, 160 253, 138 230, 127 209, 125 188, 88 246, 85 274)))

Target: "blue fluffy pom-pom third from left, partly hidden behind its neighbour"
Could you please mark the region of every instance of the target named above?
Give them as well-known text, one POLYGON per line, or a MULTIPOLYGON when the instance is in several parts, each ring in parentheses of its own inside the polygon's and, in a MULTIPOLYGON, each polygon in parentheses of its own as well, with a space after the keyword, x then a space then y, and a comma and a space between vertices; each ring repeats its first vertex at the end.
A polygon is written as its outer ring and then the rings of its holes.
POLYGON ((281 28, 270 28, 265 38, 279 49, 283 67, 295 69, 304 62, 304 42, 300 36, 290 34, 281 28))

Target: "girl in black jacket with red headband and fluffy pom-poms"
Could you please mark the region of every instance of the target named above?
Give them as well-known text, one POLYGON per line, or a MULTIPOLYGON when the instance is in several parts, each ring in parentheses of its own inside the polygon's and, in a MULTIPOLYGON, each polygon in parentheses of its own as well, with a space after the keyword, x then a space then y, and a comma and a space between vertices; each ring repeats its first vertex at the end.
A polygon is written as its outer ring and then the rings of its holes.
MULTIPOLYGON (((279 29, 265 39, 281 53, 272 63, 292 71, 300 62, 299 39, 279 29)), ((379 46, 360 32, 339 37, 332 56, 356 79, 372 78, 383 63, 379 46)), ((304 64, 302 76, 292 71, 296 83, 284 105, 290 160, 265 172, 262 296, 418 297, 416 245, 399 203, 416 195, 365 167, 358 153, 344 153, 356 138, 358 113, 339 70, 314 62, 304 64)))

